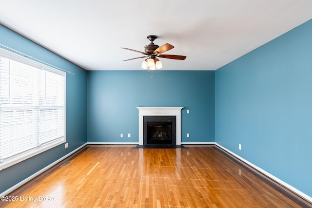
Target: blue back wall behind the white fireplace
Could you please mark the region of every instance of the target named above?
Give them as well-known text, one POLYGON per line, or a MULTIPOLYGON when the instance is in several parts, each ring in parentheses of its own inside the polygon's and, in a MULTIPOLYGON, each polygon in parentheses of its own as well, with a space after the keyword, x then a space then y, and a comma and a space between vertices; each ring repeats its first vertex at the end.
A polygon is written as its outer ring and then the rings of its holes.
POLYGON ((163 106, 184 107, 182 142, 215 141, 215 71, 89 71, 88 142, 138 142, 137 107, 163 106))

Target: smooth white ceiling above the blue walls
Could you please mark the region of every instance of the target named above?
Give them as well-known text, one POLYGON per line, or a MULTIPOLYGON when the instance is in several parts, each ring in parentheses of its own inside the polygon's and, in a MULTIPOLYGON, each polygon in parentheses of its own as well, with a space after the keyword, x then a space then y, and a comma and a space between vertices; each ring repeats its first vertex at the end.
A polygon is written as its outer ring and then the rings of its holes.
POLYGON ((309 19, 312 0, 0 0, 1 24, 86 70, 141 70, 120 47, 148 35, 187 56, 161 70, 216 70, 309 19))

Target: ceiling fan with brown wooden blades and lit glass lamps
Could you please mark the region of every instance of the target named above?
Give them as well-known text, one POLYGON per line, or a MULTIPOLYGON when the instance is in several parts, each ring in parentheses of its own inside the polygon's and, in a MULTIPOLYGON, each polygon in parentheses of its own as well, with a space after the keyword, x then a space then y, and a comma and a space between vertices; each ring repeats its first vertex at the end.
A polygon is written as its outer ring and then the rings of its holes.
POLYGON ((165 43, 159 47, 158 45, 155 45, 153 42, 157 38, 157 36, 151 35, 151 36, 148 36, 147 38, 151 41, 151 43, 144 47, 145 52, 133 50, 130 48, 122 48, 122 49, 126 49, 129 51, 141 53, 145 56, 130 58, 130 59, 123 60, 123 61, 133 60, 133 59, 137 59, 137 58, 146 58, 141 65, 142 69, 147 69, 148 67, 150 67, 150 70, 155 70, 155 69, 161 69, 162 68, 162 63, 158 59, 158 57, 159 58, 177 59, 177 60, 184 60, 186 58, 186 56, 162 54, 166 51, 173 49, 174 46, 170 45, 169 43, 165 43))

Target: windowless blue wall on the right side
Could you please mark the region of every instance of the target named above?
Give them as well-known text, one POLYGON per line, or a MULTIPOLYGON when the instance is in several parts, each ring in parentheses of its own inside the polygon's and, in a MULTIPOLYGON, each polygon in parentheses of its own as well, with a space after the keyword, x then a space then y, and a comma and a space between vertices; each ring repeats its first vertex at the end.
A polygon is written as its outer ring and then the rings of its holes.
POLYGON ((312 196, 312 20, 216 70, 215 142, 312 196))

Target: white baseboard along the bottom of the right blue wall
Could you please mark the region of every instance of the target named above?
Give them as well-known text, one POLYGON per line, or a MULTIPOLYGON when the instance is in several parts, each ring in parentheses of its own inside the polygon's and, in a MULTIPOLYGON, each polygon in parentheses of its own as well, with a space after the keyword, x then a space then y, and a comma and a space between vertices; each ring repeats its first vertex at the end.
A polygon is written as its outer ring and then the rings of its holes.
POLYGON ((234 157, 236 157, 237 159, 243 161, 244 163, 246 163, 247 165, 251 166, 252 168, 254 168, 255 170, 258 170, 259 172, 261 172, 262 174, 264 174, 265 176, 267 176, 268 178, 272 179, 273 181, 281 184, 282 186, 286 187, 287 189, 292 190, 294 193, 298 194, 299 196, 301 196, 302 198, 306 199, 307 201, 309 201, 310 203, 312 203, 312 197, 308 196, 307 194, 303 193, 302 191, 292 187, 291 185, 289 185, 288 183, 282 181, 281 179, 275 177, 274 175, 272 175, 271 173, 259 168, 258 166, 254 165, 253 163, 249 162, 248 160, 245 160, 244 158, 240 157, 239 155, 235 154, 233 151, 229 151, 228 149, 226 149, 225 147, 215 143, 215 146, 221 148, 222 150, 228 152, 229 154, 233 155, 234 157))

